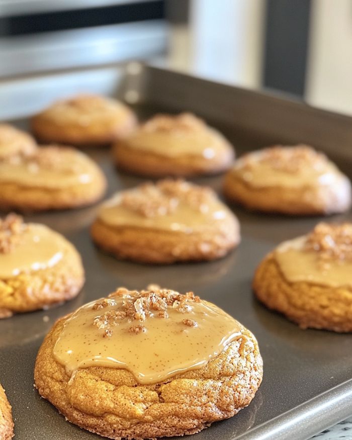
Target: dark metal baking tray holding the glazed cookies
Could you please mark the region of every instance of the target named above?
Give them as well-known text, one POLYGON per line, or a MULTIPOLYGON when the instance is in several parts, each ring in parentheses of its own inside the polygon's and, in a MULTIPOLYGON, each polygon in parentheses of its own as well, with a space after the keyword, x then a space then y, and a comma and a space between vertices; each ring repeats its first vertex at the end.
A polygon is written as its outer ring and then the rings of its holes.
MULTIPOLYGON (((0 118, 22 118, 53 99, 77 92, 106 93, 133 105, 141 118, 192 111, 219 128, 238 153, 270 143, 305 142, 325 151, 352 178, 352 118, 292 99, 238 89, 138 63, 52 72, 0 81, 0 118)), ((107 150, 89 150, 109 179, 110 196, 142 179, 117 172, 107 150)), ((222 177, 196 179, 220 192, 222 177)), ((197 440, 304 440, 352 414, 352 335, 301 330, 253 297, 251 280, 274 246, 309 231, 318 217, 292 218, 234 207, 241 222, 238 249, 214 262, 148 266, 118 261, 97 249, 89 227, 97 206, 26 216, 63 233, 82 255, 86 283, 76 299, 54 309, 0 321, 0 382, 13 405, 17 440, 99 438, 65 421, 33 387, 37 350, 55 320, 117 286, 158 283, 194 290, 236 317, 257 337, 264 379, 238 415, 195 434, 197 440)), ((329 218, 351 220, 351 213, 329 218)))

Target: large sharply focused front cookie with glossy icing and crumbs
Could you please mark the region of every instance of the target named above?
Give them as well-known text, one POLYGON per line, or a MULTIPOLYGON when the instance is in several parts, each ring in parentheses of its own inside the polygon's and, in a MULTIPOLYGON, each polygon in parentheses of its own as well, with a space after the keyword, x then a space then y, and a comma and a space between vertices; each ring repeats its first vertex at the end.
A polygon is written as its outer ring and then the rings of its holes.
POLYGON ((120 288, 56 322, 34 376, 69 421, 142 439, 237 414, 260 385, 262 360, 249 330, 192 292, 120 288))

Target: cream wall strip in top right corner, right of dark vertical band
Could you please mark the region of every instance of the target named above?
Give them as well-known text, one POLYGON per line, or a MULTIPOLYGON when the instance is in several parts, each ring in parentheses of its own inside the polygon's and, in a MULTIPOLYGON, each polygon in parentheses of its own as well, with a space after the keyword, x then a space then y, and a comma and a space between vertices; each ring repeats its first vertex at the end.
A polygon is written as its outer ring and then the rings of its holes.
POLYGON ((307 101, 352 114, 352 0, 313 0, 307 101))

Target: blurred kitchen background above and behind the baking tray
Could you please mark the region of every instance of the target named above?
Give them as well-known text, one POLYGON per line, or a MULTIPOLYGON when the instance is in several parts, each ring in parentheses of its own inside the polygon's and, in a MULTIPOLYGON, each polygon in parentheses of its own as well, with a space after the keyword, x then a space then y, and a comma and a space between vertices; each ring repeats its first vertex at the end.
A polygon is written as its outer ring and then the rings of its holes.
POLYGON ((351 48, 352 0, 0 0, 0 81, 143 59, 352 114, 351 48))

